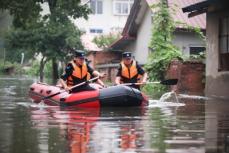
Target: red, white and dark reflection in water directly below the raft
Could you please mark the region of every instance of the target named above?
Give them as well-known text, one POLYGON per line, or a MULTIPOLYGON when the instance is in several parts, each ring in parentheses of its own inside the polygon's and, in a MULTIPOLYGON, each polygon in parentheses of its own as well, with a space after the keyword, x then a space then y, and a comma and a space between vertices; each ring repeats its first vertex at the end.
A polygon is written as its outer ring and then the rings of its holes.
MULTIPOLYGON (((105 109, 73 109, 59 110, 54 108, 36 108, 31 110, 34 128, 42 135, 49 135, 47 129, 58 128, 59 134, 68 142, 71 153, 86 152, 122 152, 122 150, 135 149, 141 146, 140 108, 130 108, 128 112, 122 108, 105 109), (131 113, 128 113, 131 112, 131 113), (137 142, 138 141, 138 142, 137 142)), ((48 137, 52 137, 49 135, 48 137)), ((37 137, 40 142, 39 149, 49 148, 49 143, 43 141, 44 137, 37 137)), ((47 139, 47 138, 46 138, 47 139)), ((46 150, 47 152, 48 150, 46 150)))

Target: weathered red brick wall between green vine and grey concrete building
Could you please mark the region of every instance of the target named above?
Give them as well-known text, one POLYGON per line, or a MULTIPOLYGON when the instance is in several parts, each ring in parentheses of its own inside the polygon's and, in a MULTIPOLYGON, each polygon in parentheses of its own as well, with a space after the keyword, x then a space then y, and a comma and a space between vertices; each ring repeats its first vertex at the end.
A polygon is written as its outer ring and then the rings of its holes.
POLYGON ((172 61, 167 78, 178 78, 178 84, 172 90, 185 94, 204 94, 205 64, 197 61, 172 61))

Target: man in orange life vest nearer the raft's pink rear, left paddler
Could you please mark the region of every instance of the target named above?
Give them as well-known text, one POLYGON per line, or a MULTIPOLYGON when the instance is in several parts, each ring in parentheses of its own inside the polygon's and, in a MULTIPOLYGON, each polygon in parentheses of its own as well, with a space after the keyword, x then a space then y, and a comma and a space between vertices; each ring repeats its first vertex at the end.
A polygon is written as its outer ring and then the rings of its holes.
MULTIPOLYGON (((74 59, 68 63, 65 73, 60 78, 60 83, 64 87, 65 90, 69 91, 71 86, 77 85, 79 83, 85 82, 90 79, 89 76, 99 76, 103 77, 104 74, 99 73, 92 69, 85 62, 85 53, 83 51, 76 51, 74 55, 74 59)), ((95 90, 88 83, 76 87, 71 90, 71 92, 79 92, 79 91, 89 91, 95 90)))

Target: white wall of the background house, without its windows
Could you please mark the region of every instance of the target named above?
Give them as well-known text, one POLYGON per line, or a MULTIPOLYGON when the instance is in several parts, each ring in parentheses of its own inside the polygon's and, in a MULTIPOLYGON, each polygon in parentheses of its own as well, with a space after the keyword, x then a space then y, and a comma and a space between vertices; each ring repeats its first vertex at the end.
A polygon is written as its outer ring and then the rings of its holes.
POLYGON ((74 20, 77 25, 86 33, 89 33, 91 28, 103 29, 103 34, 110 33, 113 28, 123 29, 128 15, 114 15, 113 14, 113 0, 103 0, 103 13, 91 14, 88 20, 83 18, 74 20))

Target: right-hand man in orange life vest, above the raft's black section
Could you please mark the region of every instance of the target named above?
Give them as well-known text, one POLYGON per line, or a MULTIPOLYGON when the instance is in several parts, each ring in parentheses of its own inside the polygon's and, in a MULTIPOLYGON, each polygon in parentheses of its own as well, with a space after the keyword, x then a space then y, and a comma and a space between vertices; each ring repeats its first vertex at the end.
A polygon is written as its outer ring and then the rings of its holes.
POLYGON ((133 59, 131 52, 124 52, 122 54, 122 61, 115 78, 116 85, 122 83, 133 83, 131 87, 140 89, 140 86, 134 83, 145 84, 147 76, 148 75, 143 68, 133 59))

